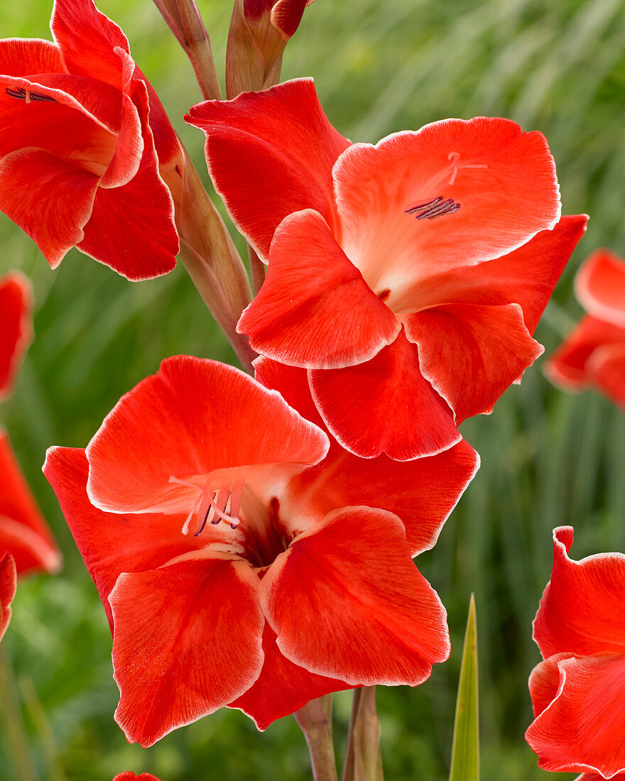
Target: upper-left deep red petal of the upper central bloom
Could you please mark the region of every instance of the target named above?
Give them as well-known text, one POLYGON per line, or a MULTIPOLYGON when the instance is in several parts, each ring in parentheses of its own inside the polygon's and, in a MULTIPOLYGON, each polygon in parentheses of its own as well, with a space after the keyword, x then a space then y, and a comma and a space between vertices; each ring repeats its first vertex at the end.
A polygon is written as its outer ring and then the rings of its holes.
POLYGON ((200 103, 184 119, 204 130, 216 190, 261 258, 291 212, 315 209, 334 228, 332 166, 349 141, 328 122, 312 79, 200 103))

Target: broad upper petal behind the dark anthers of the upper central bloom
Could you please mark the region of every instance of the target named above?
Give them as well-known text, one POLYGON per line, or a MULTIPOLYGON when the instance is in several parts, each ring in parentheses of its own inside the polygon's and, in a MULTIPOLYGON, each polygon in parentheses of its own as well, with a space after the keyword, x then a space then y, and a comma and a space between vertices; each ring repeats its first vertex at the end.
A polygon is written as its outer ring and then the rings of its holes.
POLYGON ((560 216, 545 137, 509 119, 446 119, 355 144, 334 180, 341 246, 376 291, 497 258, 560 216), (460 209, 436 219, 406 213, 438 197, 460 209))

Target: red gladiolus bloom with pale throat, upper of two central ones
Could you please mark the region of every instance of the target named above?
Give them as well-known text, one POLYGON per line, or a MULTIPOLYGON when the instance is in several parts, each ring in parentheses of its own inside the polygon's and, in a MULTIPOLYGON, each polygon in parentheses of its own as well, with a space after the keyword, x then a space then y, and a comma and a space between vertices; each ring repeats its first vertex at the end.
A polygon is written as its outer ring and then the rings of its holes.
POLYGON ((541 354, 530 334, 586 222, 559 219, 541 134, 478 117, 350 144, 312 80, 185 119, 205 131, 216 187, 269 262, 238 329, 308 369, 348 450, 443 451, 541 354))

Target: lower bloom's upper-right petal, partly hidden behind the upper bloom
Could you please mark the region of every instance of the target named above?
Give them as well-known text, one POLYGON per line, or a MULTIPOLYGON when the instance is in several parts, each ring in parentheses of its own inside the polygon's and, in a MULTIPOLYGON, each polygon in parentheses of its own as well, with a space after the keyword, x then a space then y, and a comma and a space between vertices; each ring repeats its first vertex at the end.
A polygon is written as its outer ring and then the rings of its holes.
MULTIPOLYGON (((254 365, 256 379, 278 391, 306 419, 322 425, 304 369, 269 358, 254 365)), ((326 458, 306 469, 280 496, 286 515, 322 520, 338 507, 369 505, 394 512, 405 526, 410 555, 434 546, 445 520, 477 472, 480 458, 465 440, 429 458, 359 458, 332 440, 326 458)))

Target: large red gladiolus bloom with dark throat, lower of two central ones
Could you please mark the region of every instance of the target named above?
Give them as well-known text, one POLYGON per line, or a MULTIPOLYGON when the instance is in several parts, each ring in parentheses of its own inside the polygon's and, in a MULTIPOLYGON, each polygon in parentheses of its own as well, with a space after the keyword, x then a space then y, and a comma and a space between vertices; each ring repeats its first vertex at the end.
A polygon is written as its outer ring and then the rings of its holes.
MULTIPOLYGON (((263 380, 310 404, 293 371, 268 362, 263 380)), ((411 553, 434 544, 477 455, 463 443, 394 480, 390 459, 359 474, 328 448, 276 391, 180 356, 120 399, 86 451, 48 451, 111 622, 129 740, 223 705, 265 729, 330 691, 422 683, 447 657, 445 608, 411 553)))

